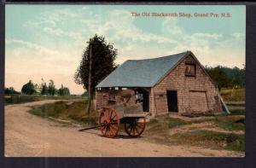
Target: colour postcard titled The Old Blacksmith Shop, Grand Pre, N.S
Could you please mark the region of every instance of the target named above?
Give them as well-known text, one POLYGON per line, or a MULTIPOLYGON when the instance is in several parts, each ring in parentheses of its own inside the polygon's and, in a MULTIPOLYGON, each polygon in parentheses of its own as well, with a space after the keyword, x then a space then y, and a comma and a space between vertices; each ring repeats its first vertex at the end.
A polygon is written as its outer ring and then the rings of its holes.
POLYGON ((6 157, 244 157, 245 5, 6 4, 6 157))

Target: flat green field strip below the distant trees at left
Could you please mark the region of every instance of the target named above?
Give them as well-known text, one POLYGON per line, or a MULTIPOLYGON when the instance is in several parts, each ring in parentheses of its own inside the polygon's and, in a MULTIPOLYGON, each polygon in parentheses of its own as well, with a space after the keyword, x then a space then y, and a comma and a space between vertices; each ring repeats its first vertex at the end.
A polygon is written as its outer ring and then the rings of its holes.
POLYGON ((31 101, 42 101, 42 100, 68 100, 68 99, 81 99, 82 96, 4 96, 4 105, 9 104, 20 104, 31 101))

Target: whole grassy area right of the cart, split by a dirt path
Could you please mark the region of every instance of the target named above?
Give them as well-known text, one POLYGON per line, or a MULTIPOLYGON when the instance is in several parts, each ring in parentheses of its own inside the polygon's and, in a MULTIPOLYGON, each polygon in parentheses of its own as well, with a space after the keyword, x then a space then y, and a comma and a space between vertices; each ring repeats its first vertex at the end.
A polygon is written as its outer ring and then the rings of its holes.
POLYGON ((184 121, 168 116, 159 116, 151 119, 145 130, 145 135, 151 142, 160 142, 164 144, 180 144, 189 146, 200 146, 203 148, 228 149, 234 151, 244 151, 244 134, 223 133, 209 130, 188 130, 174 135, 170 135, 173 128, 183 125, 192 125, 202 122, 212 122, 219 128, 224 130, 244 130, 245 125, 242 115, 226 115, 220 114, 211 116, 211 118, 196 119, 192 121, 184 121))

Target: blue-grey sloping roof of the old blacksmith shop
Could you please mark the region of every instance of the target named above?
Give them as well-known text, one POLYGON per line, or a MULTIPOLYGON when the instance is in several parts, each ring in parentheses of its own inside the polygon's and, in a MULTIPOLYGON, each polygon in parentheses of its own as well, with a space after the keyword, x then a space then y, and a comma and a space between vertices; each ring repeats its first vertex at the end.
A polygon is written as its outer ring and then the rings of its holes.
POLYGON ((104 87, 153 87, 160 78, 176 67, 189 53, 168 55, 145 60, 128 60, 104 78, 96 88, 104 87))

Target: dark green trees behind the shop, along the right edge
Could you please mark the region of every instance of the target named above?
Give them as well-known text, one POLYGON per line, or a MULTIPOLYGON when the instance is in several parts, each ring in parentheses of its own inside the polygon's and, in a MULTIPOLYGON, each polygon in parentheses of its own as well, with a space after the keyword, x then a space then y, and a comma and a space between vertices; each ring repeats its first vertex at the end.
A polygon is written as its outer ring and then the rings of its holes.
POLYGON ((221 88, 244 88, 245 87, 245 72, 246 67, 206 67, 208 74, 212 80, 217 84, 218 89, 221 88))

